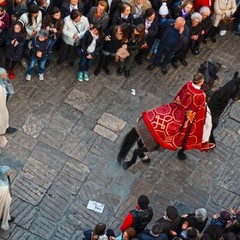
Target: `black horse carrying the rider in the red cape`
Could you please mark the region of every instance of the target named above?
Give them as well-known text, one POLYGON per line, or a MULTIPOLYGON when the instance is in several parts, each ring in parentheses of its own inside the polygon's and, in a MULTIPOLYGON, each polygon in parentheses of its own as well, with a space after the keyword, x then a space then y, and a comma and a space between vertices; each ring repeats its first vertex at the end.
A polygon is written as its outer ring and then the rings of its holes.
MULTIPOLYGON (((213 130, 217 127, 219 118, 223 113, 224 109, 226 108, 229 100, 232 99, 235 101, 239 98, 240 98, 240 78, 238 77, 238 72, 236 72, 234 74, 233 79, 230 82, 226 83, 218 91, 216 91, 209 101, 209 108, 212 112, 213 119, 211 137, 213 137, 213 130), (219 108, 219 110, 217 110, 217 108, 219 108)), ((136 162, 138 157, 141 158, 142 162, 148 163, 150 162, 150 158, 148 157, 148 155, 144 154, 145 152, 148 152, 148 149, 144 146, 136 129, 132 128, 122 141, 120 151, 117 156, 117 161, 119 162, 119 164, 123 163, 124 170, 132 166, 136 162), (135 145, 136 142, 138 148, 133 151, 132 159, 130 161, 124 161, 127 157, 128 152, 135 145)), ((182 148, 179 150, 178 158, 180 160, 184 160, 185 158, 181 159, 181 157, 184 155, 185 155, 184 149, 182 148)))

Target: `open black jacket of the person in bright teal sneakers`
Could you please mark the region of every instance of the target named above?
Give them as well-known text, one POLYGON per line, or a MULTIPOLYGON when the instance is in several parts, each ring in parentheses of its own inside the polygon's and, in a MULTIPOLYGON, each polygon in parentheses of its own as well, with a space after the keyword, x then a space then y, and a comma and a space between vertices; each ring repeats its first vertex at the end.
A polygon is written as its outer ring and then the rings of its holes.
MULTIPOLYGON (((84 34, 82 40, 81 40, 81 49, 82 51, 87 55, 87 48, 89 47, 89 45, 92 43, 93 40, 93 36, 91 34, 91 32, 88 30, 86 31, 86 33, 84 34)), ((93 53, 91 53, 92 57, 96 57, 100 51, 102 50, 103 47, 103 42, 104 42, 104 35, 101 34, 99 36, 99 38, 96 40, 96 48, 95 51, 93 53)))

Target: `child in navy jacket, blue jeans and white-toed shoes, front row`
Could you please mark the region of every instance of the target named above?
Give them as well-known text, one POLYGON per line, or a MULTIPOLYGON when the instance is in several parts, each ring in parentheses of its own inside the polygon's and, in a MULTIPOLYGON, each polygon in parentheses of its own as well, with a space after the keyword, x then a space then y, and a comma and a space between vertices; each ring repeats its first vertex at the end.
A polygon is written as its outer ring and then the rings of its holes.
POLYGON ((27 70, 26 80, 30 81, 34 73, 35 64, 38 62, 38 78, 44 80, 45 64, 49 54, 52 51, 51 41, 48 39, 48 31, 41 29, 38 35, 32 40, 31 43, 31 61, 27 70))

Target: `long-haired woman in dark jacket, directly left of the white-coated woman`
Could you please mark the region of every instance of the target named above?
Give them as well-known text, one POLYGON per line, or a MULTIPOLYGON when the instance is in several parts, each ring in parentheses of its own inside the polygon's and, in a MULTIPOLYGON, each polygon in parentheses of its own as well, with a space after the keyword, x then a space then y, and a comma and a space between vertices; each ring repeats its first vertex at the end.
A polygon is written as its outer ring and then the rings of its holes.
MULTIPOLYGON (((48 31, 48 38, 51 42, 51 48, 55 45, 55 43, 60 39, 62 30, 63 30, 63 19, 61 18, 61 11, 59 8, 54 7, 51 13, 46 14, 43 19, 43 29, 48 31)), ((51 58, 51 53, 48 55, 46 65, 49 65, 51 58)))

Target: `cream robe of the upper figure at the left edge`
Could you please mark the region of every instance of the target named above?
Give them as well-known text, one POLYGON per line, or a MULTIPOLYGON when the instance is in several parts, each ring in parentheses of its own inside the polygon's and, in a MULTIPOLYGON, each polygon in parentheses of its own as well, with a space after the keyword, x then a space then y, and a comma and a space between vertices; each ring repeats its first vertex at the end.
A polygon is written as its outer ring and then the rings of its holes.
POLYGON ((0 135, 4 134, 9 127, 9 115, 6 106, 6 97, 6 89, 3 85, 0 84, 0 135))

